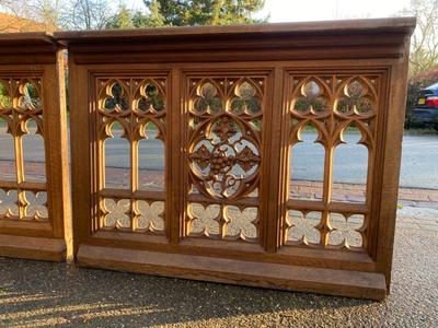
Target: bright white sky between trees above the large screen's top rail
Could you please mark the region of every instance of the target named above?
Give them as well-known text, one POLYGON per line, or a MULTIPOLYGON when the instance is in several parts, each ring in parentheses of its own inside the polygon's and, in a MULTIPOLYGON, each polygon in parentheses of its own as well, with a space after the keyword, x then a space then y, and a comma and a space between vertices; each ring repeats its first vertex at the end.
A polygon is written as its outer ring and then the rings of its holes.
MULTIPOLYGON (((145 8, 142 0, 122 2, 130 9, 145 8)), ((388 17, 408 4, 410 0, 266 0, 256 16, 269 15, 270 23, 388 17)))

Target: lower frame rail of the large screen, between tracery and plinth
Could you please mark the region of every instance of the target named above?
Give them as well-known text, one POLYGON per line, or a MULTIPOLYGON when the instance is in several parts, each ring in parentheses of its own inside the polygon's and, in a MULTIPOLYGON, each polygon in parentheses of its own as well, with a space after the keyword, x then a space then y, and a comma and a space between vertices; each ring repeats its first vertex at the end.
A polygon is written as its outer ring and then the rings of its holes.
POLYGON ((194 254, 233 259, 251 259, 316 268, 334 268, 339 270, 362 270, 374 272, 376 262, 366 253, 350 253, 339 249, 321 249, 304 247, 283 247, 275 254, 264 250, 261 245, 245 242, 220 241, 203 238, 185 238, 177 245, 170 245, 164 236, 128 232, 99 231, 83 244, 111 247, 117 241, 117 247, 129 249, 153 249, 163 253, 194 254), (206 253, 208 248, 208 253, 206 253))

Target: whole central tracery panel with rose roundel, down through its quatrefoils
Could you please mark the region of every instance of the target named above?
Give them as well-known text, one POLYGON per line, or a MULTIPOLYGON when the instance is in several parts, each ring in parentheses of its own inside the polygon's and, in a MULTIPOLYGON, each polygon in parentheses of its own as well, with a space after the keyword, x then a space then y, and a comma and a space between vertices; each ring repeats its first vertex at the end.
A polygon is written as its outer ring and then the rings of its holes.
POLYGON ((265 89, 265 77, 187 78, 188 236, 257 239, 265 89))

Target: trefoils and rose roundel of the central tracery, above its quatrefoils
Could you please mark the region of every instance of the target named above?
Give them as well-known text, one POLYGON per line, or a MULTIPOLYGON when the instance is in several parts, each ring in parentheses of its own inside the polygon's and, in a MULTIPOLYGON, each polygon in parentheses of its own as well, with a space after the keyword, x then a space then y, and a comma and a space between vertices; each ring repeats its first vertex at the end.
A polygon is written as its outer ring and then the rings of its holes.
POLYGON ((263 92, 256 83, 250 79, 195 82, 189 107, 196 121, 191 133, 192 180, 209 197, 242 197, 256 187, 261 133, 252 120, 262 115, 263 92))

